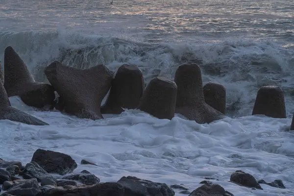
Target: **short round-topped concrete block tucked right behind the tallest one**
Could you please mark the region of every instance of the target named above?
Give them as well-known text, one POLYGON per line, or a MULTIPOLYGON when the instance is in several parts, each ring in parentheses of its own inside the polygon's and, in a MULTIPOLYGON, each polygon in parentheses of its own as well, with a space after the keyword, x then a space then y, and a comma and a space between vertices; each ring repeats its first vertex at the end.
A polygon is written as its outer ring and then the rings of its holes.
POLYGON ((223 85, 209 82, 203 86, 205 102, 225 114, 225 96, 226 91, 223 85))

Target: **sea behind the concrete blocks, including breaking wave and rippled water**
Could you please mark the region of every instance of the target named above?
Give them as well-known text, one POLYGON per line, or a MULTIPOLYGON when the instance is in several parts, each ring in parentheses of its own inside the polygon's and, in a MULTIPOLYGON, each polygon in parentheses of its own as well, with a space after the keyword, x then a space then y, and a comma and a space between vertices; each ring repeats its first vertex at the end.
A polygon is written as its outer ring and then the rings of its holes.
POLYGON ((293 0, 2 0, 0 56, 12 46, 36 80, 53 60, 116 70, 136 64, 147 82, 197 62, 227 89, 233 117, 250 115, 263 85, 285 91, 294 112, 293 0))

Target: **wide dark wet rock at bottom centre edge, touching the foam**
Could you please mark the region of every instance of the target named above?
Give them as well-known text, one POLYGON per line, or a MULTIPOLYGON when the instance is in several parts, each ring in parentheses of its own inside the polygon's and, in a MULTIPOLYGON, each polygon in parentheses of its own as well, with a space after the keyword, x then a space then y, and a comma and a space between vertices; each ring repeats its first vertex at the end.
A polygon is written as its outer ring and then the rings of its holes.
POLYGON ((118 183, 123 185, 125 196, 174 196, 174 191, 165 183, 123 176, 118 183))

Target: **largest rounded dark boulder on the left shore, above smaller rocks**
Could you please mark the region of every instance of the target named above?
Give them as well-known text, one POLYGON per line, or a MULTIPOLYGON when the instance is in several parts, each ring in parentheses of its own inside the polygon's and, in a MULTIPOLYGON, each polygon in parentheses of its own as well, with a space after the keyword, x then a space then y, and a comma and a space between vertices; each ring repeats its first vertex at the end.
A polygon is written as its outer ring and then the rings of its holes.
POLYGON ((51 150, 37 149, 32 160, 39 164, 46 172, 65 175, 77 167, 71 156, 51 150))

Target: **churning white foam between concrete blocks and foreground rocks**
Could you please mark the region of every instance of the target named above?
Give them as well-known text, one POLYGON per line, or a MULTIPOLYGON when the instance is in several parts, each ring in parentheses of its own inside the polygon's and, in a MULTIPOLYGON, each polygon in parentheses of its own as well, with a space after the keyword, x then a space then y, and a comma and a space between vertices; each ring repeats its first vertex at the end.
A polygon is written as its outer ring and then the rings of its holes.
MULTIPOLYGON (((190 191, 204 177, 236 196, 294 195, 294 133, 290 119, 263 116, 226 118, 197 124, 179 117, 159 120, 138 110, 127 110, 104 120, 78 119, 60 112, 41 112, 19 98, 12 105, 48 122, 32 126, 0 121, 1 158, 30 161, 38 148, 69 154, 76 172, 88 170, 101 182, 133 175, 169 185, 184 184, 190 191), (98 165, 80 165, 86 159, 98 165), (251 190, 227 182, 232 172, 243 170, 256 179, 282 179, 287 189, 261 184, 251 190)), ((177 196, 181 196, 176 191, 177 196)))

